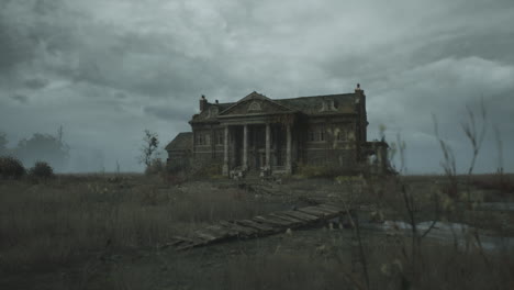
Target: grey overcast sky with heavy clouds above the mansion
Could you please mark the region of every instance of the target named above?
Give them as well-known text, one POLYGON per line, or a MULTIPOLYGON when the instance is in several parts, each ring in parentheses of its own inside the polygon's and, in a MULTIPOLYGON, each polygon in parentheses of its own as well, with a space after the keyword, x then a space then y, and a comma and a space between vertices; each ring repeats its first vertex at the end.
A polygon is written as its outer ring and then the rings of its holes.
POLYGON ((1 0, 0 132, 14 146, 64 125, 74 170, 142 170, 143 130, 161 145, 190 131, 198 99, 237 101, 351 92, 406 142, 410 172, 440 171, 442 136, 459 168, 461 123, 483 98, 478 159, 493 171, 501 132, 514 171, 512 0, 1 0), (104 157, 103 164, 96 161, 104 157))

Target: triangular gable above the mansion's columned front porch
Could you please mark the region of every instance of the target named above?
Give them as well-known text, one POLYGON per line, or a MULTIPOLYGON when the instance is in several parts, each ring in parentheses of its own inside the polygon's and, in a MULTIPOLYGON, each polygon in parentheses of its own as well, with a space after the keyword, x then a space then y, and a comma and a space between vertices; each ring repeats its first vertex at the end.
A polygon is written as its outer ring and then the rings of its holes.
POLYGON ((256 91, 241 99, 223 112, 219 116, 238 115, 238 114, 267 114, 277 112, 295 112, 283 104, 280 104, 266 96, 256 91))

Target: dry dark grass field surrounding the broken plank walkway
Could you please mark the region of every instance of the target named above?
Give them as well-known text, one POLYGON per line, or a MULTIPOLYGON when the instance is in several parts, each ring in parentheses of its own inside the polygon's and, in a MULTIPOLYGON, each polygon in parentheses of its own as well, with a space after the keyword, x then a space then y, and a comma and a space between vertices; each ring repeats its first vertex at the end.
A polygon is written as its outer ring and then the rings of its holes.
POLYGON ((0 289, 514 289, 512 248, 484 249, 473 237, 514 236, 514 212, 477 210, 514 200, 512 176, 496 178, 476 176, 469 187, 459 179, 462 198, 452 198, 440 176, 358 186, 290 179, 271 192, 225 179, 177 186, 143 175, 1 180, 0 289), (462 203, 468 192, 474 208, 462 203), (357 210, 354 228, 306 228, 186 252, 164 247, 202 225, 290 209, 310 198, 373 210, 357 210), (414 238, 358 224, 409 223, 413 215, 416 223, 437 219, 477 231, 460 247, 421 232, 414 238))

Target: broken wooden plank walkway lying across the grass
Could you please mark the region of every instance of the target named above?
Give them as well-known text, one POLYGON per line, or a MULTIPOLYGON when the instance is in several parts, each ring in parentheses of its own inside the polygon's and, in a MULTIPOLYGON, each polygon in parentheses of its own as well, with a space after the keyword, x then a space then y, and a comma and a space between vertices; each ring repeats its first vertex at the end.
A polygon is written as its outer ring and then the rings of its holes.
POLYGON ((176 236, 167 246, 174 246, 180 250, 235 238, 267 236, 284 233, 288 228, 320 224, 345 213, 344 209, 335 204, 317 204, 258 215, 252 220, 220 221, 217 224, 194 231, 188 237, 176 236))

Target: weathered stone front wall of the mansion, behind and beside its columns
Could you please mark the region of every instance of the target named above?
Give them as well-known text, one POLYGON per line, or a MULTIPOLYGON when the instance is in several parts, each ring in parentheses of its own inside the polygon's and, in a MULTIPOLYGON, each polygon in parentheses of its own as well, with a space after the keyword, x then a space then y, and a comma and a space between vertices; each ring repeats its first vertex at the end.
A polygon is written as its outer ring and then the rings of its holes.
MULTIPOLYGON (((269 108, 262 108, 264 111, 269 108)), ((364 112, 365 113, 365 112, 364 112)), ((295 166, 327 166, 342 169, 355 169, 358 166, 359 140, 362 130, 358 114, 323 115, 297 120, 292 127, 291 160, 295 166), (315 132, 316 140, 312 140, 315 132), (323 132, 323 133, 320 133, 323 132)), ((253 131, 250 130, 249 133, 253 131)), ((194 145, 192 164, 194 167, 223 165, 224 141, 219 140, 223 134, 223 126, 216 123, 193 125, 194 145), (199 136, 201 136, 199 138, 199 136)), ((287 159, 286 132, 280 124, 271 126, 271 166, 283 166, 287 159)), ((262 135, 262 134, 260 134, 262 135)), ((256 157, 258 154, 252 147, 252 136, 248 136, 248 165, 254 168, 262 163, 256 157), (255 159, 255 160, 254 160, 255 159)), ((254 137, 255 138, 255 137, 254 137)), ((243 163, 243 127, 233 126, 230 130, 228 165, 231 168, 243 163)), ((365 140, 365 137, 364 137, 365 140)), ((261 147, 261 146, 260 146, 261 147)), ((260 148, 259 147, 259 148, 260 148)), ((261 149, 261 148, 260 148, 261 149)))

